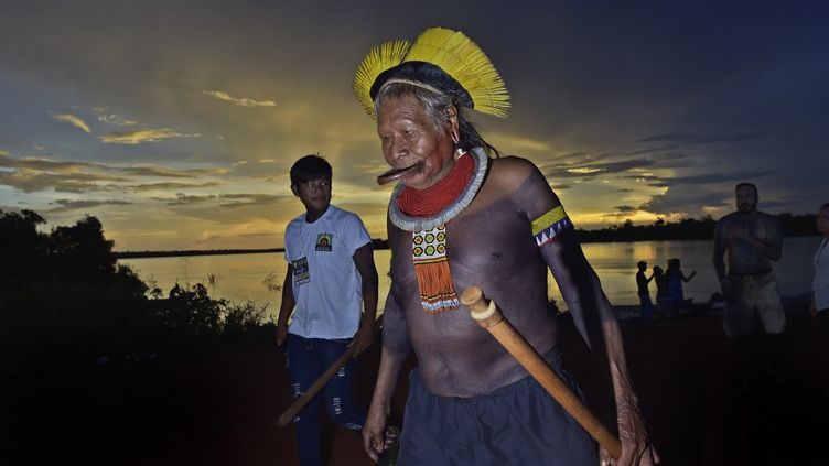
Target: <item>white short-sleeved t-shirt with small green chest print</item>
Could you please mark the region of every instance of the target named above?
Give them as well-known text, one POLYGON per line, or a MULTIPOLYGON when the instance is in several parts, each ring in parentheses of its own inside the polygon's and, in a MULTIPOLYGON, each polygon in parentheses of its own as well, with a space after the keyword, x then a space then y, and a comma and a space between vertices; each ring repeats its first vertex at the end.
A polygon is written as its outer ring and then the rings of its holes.
POLYGON ((362 281, 354 252, 372 241, 356 214, 329 205, 313 224, 300 215, 286 228, 297 306, 288 333, 305 338, 351 338, 359 327, 362 281))

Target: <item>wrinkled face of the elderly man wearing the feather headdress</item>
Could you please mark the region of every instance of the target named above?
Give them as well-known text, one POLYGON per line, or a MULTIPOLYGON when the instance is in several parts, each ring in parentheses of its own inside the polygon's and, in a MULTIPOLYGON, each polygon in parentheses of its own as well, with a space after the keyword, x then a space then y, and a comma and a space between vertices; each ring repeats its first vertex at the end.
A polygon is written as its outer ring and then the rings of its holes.
POLYGON ((438 131, 412 97, 388 98, 377 112, 386 163, 394 169, 413 166, 401 181, 417 189, 434 185, 454 166, 450 131, 438 131))

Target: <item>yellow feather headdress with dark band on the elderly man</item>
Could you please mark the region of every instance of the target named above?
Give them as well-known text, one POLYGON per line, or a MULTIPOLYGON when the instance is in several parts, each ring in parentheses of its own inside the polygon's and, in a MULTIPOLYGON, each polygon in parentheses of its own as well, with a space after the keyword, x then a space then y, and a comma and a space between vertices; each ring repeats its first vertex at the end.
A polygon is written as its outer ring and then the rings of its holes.
POLYGON ((354 76, 354 95, 372 118, 374 98, 388 84, 406 83, 434 93, 451 93, 462 106, 506 118, 509 94, 484 52, 462 32, 423 31, 413 44, 390 41, 372 47, 354 76))

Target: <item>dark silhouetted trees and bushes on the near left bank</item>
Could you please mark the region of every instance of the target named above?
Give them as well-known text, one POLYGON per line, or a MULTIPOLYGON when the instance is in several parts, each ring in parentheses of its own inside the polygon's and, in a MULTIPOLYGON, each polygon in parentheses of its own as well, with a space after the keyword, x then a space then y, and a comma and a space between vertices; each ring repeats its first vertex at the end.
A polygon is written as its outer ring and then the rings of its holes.
POLYGON ((212 300, 203 284, 149 290, 118 263, 95 217, 50 232, 44 224, 32 210, 0 210, 0 369, 55 355, 180 353, 266 332, 263 308, 212 300))

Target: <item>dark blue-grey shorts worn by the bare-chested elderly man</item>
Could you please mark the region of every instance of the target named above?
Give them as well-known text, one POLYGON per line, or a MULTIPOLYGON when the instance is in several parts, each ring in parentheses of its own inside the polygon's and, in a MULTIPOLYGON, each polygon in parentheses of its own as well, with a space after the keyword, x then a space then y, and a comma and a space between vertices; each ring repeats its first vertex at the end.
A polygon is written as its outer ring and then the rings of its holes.
POLYGON ((475 398, 437 397, 417 369, 409 379, 400 466, 599 464, 595 441, 532 377, 475 398))

